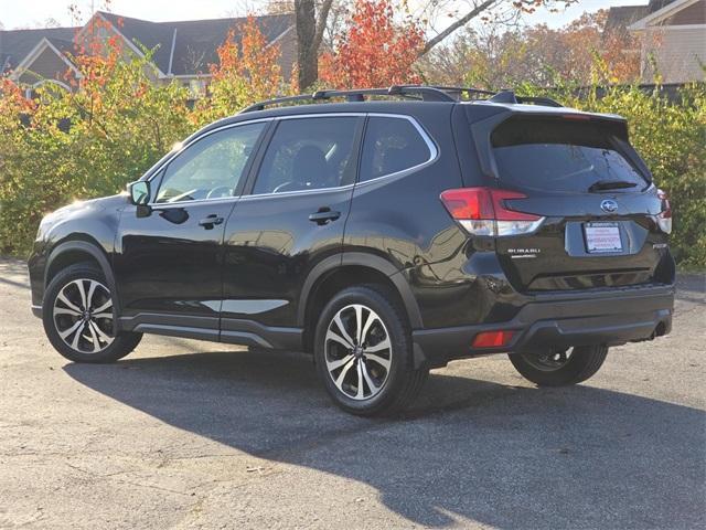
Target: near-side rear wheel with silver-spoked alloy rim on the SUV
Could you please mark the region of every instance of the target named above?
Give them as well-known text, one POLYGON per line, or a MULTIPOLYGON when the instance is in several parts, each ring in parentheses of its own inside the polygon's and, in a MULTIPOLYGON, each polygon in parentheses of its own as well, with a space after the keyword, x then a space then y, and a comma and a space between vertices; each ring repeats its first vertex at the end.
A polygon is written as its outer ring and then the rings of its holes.
POLYGON ((409 324, 394 300, 384 286, 362 285, 338 293, 321 312, 314 336, 317 371, 333 402, 349 413, 396 414, 427 379, 427 368, 413 365, 409 324), (359 343, 361 326, 365 335, 361 332, 359 343))

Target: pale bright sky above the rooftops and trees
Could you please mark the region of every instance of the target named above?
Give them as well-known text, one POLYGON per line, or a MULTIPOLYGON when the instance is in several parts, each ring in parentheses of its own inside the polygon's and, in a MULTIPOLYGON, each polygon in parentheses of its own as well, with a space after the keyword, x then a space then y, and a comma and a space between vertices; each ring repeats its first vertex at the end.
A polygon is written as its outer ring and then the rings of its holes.
MULTIPOLYGON (((510 0, 507 0, 510 1, 510 0)), ((77 4, 86 17, 92 4, 99 9, 101 0, 0 0, 0 22, 4 29, 42 28, 47 19, 61 25, 74 25, 68 12, 69 4, 77 4)), ((265 0, 111 0, 115 13, 156 22, 172 20, 215 19, 237 17, 261 9, 265 0)), ((414 3, 414 2, 410 2, 414 3)), ((558 28, 579 17, 585 11, 596 11, 611 6, 646 4, 648 0, 581 0, 570 8, 552 13, 546 9, 527 17, 528 23, 547 23, 558 28)))

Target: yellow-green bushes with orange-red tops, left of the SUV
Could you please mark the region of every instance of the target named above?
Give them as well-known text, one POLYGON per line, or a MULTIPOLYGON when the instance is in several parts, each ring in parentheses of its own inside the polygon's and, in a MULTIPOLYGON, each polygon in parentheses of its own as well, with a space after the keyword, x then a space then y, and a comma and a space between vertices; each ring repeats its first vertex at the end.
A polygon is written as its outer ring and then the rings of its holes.
POLYGON ((193 107, 176 83, 152 83, 151 51, 126 61, 116 41, 73 57, 83 77, 36 98, 0 76, 0 254, 26 256, 45 213, 75 200, 119 193, 199 127, 285 89, 279 50, 254 19, 240 45, 218 49, 210 97, 193 107))

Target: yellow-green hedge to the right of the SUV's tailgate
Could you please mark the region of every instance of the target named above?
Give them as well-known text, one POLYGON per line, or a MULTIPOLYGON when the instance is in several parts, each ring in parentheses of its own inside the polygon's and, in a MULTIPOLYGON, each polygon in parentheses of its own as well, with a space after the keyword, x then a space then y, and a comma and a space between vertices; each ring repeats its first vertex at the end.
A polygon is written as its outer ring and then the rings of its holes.
MULTIPOLYGON (((547 91, 523 87, 524 93, 547 91)), ((564 86, 549 94, 581 110, 619 114, 628 119, 630 141, 650 167, 674 211, 671 246, 685 268, 706 268, 706 84, 695 83, 670 100, 657 86, 564 86), (599 94, 601 97, 599 97, 599 94)))

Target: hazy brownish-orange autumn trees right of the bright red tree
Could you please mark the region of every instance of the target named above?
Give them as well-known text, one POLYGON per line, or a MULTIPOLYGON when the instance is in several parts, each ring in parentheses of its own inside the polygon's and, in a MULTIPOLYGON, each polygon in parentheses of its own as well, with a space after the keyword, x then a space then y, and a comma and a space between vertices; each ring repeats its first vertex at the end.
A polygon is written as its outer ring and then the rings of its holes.
POLYGON ((639 55, 628 33, 605 31, 607 11, 584 13, 559 29, 537 24, 504 31, 486 24, 432 50, 422 68, 437 83, 499 89, 523 83, 552 86, 634 81, 639 55))

